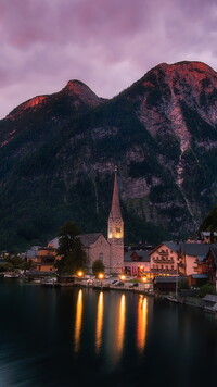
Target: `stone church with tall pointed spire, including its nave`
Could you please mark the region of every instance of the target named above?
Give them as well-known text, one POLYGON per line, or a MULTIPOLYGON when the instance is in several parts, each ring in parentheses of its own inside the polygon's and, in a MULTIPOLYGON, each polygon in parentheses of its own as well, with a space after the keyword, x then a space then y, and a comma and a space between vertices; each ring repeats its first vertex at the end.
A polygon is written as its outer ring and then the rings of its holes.
MULTIPOLYGON (((90 272, 92 263, 99 259, 105 266, 105 273, 118 274, 124 272, 124 222, 119 204, 116 167, 112 205, 107 221, 107 239, 101 233, 80 234, 78 238, 87 253, 90 272)), ((59 239, 51 240, 49 246, 58 248, 59 239)))

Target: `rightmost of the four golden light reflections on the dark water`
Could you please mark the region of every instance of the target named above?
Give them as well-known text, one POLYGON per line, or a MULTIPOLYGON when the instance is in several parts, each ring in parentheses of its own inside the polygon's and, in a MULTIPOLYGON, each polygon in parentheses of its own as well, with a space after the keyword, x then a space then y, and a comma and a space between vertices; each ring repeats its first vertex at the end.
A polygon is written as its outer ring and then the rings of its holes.
POLYGON ((138 323, 137 323, 137 347, 142 351, 145 346, 148 325, 148 301, 146 298, 140 296, 138 302, 138 323))

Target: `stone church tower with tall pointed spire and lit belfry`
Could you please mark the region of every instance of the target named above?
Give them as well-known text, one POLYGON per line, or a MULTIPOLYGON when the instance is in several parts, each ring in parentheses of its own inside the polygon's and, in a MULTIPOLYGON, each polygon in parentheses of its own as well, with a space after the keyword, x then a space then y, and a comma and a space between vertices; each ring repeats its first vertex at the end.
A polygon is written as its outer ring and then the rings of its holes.
POLYGON ((107 240, 111 246, 111 273, 122 273, 124 270, 124 222, 119 205, 117 167, 115 167, 112 208, 107 222, 107 240))

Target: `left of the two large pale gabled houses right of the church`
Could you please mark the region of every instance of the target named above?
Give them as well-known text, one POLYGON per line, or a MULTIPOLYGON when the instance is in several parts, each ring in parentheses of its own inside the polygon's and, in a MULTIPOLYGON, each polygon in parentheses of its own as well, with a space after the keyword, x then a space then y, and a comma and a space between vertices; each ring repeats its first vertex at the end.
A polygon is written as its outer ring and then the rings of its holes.
POLYGON ((179 244, 164 241, 150 253, 150 272, 153 275, 177 275, 179 244))

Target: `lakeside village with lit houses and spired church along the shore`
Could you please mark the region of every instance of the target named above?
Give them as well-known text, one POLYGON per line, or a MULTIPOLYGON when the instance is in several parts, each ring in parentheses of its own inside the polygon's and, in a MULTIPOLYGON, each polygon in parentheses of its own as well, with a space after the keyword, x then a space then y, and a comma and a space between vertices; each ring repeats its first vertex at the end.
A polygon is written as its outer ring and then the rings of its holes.
POLYGON ((68 242, 68 237, 66 232, 65 236, 54 238, 46 247, 34 246, 26 253, 10 259, 10 254, 3 252, 0 274, 8 278, 22 277, 43 286, 133 290, 217 313, 217 233, 202 232, 197 240, 163 241, 156 247, 142 244, 124 246, 117 171, 107 239, 101 233, 76 235, 72 239, 79 241, 76 245, 77 253, 86 257, 86 270, 78 261, 74 275, 68 275, 67 269, 65 272, 60 270, 63 269, 64 259, 67 259, 64 258, 64 249, 61 251, 61 244, 68 242), (81 252, 78 252, 79 247, 81 252), (18 265, 14 264, 16 261, 20 264, 23 262, 20 265, 23 270, 17 270, 18 265))

